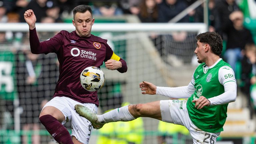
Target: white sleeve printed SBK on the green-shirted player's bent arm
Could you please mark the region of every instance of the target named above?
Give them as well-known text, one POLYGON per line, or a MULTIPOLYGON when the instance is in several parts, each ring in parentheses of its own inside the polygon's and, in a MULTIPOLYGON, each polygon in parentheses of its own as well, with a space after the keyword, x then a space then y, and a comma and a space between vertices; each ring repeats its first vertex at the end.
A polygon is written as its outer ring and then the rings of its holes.
POLYGON ((224 93, 208 100, 212 105, 221 105, 234 102, 236 100, 237 85, 235 74, 232 68, 223 66, 219 69, 219 82, 224 86, 224 93))

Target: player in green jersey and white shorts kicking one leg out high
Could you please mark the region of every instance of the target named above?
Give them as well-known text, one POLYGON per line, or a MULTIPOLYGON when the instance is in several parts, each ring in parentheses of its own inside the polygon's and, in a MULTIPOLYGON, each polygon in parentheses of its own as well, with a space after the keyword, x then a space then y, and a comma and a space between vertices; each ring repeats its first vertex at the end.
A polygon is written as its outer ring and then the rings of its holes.
POLYGON ((76 105, 76 112, 99 129, 105 123, 131 121, 150 117, 185 126, 194 144, 215 144, 227 118, 228 103, 236 100, 236 79, 231 66, 220 58, 222 39, 216 32, 196 36, 195 54, 200 65, 187 86, 158 87, 150 82, 140 83, 142 94, 160 94, 188 100, 161 100, 127 105, 103 115, 76 105))

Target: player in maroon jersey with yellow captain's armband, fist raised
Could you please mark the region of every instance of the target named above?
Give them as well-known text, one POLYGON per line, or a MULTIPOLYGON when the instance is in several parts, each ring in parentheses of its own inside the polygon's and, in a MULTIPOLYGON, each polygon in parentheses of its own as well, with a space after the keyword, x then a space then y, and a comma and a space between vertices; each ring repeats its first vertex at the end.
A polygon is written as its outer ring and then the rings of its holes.
POLYGON ((94 24, 92 9, 79 5, 73 9, 75 31, 60 31, 54 37, 39 42, 33 10, 24 13, 29 25, 30 49, 34 54, 56 53, 60 75, 53 99, 42 109, 39 120, 54 139, 61 144, 87 144, 92 130, 91 122, 80 117, 74 106, 81 104, 97 113, 99 101, 96 92, 85 90, 80 84, 80 73, 89 66, 100 67, 105 62, 109 70, 127 71, 126 62, 117 56, 107 40, 91 34, 94 24), (72 118, 72 134, 62 125, 72 118))

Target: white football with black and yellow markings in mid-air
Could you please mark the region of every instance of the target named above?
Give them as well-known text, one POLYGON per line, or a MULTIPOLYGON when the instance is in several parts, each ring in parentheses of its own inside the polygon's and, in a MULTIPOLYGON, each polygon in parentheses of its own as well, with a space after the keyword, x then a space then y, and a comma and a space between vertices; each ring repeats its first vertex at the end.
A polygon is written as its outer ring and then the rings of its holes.
POLYGON ((105 76, 100 68, 91 66, 82 71, 80 74, 80 82, 84 89, 97 91, 103 87, 105 76))

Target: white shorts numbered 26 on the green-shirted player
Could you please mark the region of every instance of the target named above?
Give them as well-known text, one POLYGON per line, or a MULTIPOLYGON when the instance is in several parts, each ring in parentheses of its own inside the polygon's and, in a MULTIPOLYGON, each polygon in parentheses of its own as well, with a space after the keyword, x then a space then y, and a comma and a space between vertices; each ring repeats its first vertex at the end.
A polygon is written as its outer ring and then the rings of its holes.
POLYGON ((189 118, 187 100, 161 100, 162 121, 185 126, 193 138, 194 144, 215 144, 218 133, 209 133, 195 126, 189 118))

